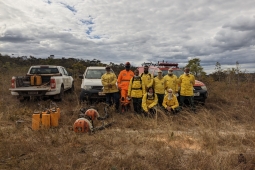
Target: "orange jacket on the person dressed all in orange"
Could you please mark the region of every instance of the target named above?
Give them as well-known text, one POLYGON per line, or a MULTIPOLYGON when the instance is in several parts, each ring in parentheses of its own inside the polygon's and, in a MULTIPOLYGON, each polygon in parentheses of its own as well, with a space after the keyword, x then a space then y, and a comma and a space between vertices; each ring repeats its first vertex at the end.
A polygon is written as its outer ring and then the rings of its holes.
POLYGON ((123 90, 128 90, 130 79, 134 77, 134 72, 122 70, 118 76, 118 87, 123 90))

